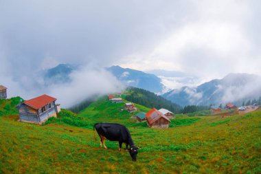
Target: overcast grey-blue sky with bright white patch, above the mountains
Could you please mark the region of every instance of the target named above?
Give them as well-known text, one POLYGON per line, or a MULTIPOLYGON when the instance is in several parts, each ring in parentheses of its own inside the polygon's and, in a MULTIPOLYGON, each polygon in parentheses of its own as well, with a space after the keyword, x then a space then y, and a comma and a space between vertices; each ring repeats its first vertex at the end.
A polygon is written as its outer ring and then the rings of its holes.
POLYGON ((258 0, 0 0, 0 80, 58 63, 261 74, 260 19, 258 0))

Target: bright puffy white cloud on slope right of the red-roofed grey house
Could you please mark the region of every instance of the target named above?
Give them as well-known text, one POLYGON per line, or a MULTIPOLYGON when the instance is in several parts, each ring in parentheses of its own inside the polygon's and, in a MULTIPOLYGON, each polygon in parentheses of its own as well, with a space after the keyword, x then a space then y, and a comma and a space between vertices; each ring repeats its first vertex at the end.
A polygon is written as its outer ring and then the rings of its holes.
POLYGON ((62 107, 76 105, 94 95, 102 96, 124 89, 112 74, 100 68, 84 67, 73 72, 71 79, 70 83, 49 87, 49 94, 58 98, 62 107))

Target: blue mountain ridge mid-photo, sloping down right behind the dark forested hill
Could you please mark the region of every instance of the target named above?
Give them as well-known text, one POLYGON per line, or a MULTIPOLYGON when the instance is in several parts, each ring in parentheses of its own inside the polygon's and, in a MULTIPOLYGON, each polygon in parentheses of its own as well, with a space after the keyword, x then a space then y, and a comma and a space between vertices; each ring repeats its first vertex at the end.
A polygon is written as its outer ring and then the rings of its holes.
POLYGON ((112 66, 106 69, 126 86, 138 87, 155 93, 163 91, 164 86, 161 83, 161 79, 154 74, 120 66, 112 66))

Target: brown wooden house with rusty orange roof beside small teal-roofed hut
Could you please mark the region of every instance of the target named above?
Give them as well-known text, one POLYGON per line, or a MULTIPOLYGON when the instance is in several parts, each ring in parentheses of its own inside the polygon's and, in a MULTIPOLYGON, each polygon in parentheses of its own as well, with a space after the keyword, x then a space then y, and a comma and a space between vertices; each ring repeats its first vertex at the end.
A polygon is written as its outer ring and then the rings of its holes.
POLYGON ((152 128, 168 128, 170 120, 163 113, 153 108, 146 113, 147 124, 152 128))

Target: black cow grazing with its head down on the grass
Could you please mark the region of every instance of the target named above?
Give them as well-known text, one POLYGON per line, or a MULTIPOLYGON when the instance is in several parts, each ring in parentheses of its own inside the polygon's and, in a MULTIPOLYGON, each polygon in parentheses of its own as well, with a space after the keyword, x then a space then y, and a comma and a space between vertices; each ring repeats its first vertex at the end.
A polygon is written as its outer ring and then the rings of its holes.
POLYGON ((124 143, 133 161, 137 161, 137 153, 139 148, 134 145, 133 139, 131 138, 131 133, 124 125, 117 123, 96 123, 93 125, 93 131, 94 129, 96 129, 98 135, 100 136, 100 147, 102 147, 103 144, 104 149, 107 149, 105 146, 105 139, 107 139, 119 142, 119 151, 121 151, 122 143, 124 143), (130 149, 128 149, 128 146, 130 146, 130 149))

